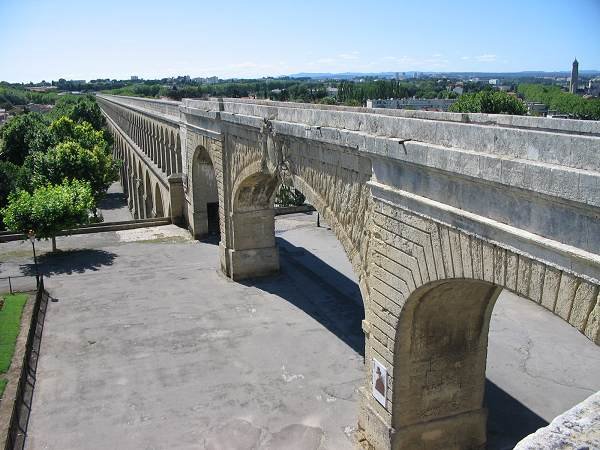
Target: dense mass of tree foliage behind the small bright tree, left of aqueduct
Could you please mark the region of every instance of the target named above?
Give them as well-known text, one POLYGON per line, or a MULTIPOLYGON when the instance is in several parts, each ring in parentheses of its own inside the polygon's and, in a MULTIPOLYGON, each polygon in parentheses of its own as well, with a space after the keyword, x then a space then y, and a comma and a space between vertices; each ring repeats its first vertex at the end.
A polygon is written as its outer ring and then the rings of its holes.
MULTIPOLYGON (((95 211, 94 202, 118 179, 103 123, 93 97, 65 96, 51 113, 13 116, 0 129, 0 211, 10 193, 23 204, 40 189, 79 182, 86 183, 88 209, 95 211)), ((0 228, 2 223, 0 217, 0 228)))

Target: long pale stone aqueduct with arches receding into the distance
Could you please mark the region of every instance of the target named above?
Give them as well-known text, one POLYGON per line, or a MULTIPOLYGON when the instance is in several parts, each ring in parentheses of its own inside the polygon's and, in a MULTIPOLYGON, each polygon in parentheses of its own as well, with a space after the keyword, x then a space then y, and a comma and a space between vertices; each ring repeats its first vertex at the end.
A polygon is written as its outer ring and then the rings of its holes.
POLYGON ((342 243, 364 301, 359 434, 375 449, 478 448, 502 289, 600 344, 600 124, 239 99, 98 96, 136 217, 195 236, 218 202, 221 267, 275 272, 274 194, 342 243), (208 205, 208 206, 207 206, 208 205), (372 360, 387 396, 371 394, 372 360))

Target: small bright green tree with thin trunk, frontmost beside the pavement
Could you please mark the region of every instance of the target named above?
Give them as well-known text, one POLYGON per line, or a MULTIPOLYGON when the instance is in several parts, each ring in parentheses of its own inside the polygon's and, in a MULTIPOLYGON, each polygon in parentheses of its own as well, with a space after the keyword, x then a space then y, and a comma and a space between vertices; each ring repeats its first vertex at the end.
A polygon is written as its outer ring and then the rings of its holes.
POLYGON ((56 235, 88 223, 94 206, 89 183, 65 180, 59 185, 39 187, 33 194, 13 192, 2 215, 9 230, 24 234, 33 231, 38 239, 50 238, 52 251, 56 251, 56 235))

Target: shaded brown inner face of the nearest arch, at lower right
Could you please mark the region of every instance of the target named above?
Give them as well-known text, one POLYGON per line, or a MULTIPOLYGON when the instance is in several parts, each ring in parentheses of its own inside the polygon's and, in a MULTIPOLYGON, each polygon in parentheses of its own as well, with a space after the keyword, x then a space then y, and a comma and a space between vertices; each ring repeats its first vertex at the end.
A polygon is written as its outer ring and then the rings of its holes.
POLYGON ((502 288, 457 279, 417 289, 396 332, 392 426, 394 448, 479 448, 486 442, 483 407, 487 339, 502 288), (424 438, 423 436, 427 436, 424 438))

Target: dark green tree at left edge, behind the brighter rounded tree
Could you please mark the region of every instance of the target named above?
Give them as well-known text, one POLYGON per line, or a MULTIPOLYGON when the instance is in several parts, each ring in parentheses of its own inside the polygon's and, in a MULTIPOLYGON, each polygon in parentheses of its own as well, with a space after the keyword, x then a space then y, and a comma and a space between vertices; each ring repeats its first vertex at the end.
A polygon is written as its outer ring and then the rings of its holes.
POLYGON ((0 160, 16 165, 32 152, 45 151, 52 145, 52 135, 43 116, 38 113, 11 117, 0 129, 0 160))

